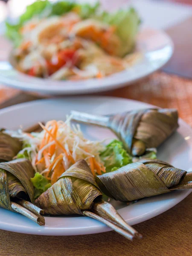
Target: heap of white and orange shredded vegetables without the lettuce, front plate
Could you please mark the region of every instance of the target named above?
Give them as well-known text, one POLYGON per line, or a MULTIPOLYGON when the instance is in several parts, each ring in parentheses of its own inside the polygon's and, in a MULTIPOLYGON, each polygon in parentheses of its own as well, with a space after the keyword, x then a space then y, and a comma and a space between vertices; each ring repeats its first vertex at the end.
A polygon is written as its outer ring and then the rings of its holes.
MULTIPOLYGON (((67 116, 65 122, 56 122, 55 120, 47 122, 44 130, 40 133, 27 134, 22 130, 6 131, 6 133, 12 137, 20 138, 24 145, 27 145, 19 154, 27 152, 35 171, 43 175, 49 173, 51 176, 51 172, 54 172, 59 164, 62 164, 65 171, 81 159, 86 160, 90 166, 91 157, 98 165, 102 165, 99 154, 105 149, 105 145, 102 142, 85 139, 80 125, 71 124, 71 116, 67 116), (45 159, 45 152, 48 160, 45 159)), ((98 171, 97 164, 94 166, 94 172, 98 171)))

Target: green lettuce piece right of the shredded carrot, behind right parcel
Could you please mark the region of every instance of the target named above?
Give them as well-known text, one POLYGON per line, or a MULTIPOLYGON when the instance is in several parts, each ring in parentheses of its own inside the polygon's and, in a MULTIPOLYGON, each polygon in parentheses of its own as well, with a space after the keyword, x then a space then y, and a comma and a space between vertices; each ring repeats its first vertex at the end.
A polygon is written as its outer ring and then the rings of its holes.
POLYGON ((131 156, 123 148, 119 140, 113 140, 106 146, 105 151, 100 154, 106 172, 113 172, 122 166, 132 163, 131 156))

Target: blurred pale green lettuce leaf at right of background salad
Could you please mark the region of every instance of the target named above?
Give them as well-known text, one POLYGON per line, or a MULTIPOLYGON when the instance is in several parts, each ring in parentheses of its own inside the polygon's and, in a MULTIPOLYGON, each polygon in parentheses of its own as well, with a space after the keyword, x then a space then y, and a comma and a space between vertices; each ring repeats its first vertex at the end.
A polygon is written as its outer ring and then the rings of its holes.
POLYGON ((119 56, 124 56, 131 52, 135 45, 136 35, 141 22, 135 9, 123 9, 112 14, 102 12, 97 18, 109 25, 116 26, 116 35, 118 35, 122 41, 119 56))

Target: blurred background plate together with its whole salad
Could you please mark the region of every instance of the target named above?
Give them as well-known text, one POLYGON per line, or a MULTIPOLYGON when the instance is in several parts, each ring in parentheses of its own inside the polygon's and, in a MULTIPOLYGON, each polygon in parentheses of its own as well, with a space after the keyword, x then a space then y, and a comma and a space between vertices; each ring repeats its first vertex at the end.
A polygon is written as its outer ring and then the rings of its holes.
POLYGON ((10 0, 5 34, 14 47, 11 65, 0 63, 0 81, 47 94, 99 92, 147 76, 169 60, 172 41, 140 28, 131 2, 109 11, 108 2, 101 3, 37 0, 16 8, 10 0))

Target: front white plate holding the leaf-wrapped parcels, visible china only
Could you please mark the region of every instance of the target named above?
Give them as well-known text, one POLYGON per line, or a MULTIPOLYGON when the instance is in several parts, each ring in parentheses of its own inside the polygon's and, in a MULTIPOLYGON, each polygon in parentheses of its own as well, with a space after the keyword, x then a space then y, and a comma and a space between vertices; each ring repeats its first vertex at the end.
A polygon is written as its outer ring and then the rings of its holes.
MULTIPOLYGON (((0 127, 17 129, 28 127, 38 121, 65 119, 71 110, 97 114, 111 114, 131 109, 148 108, 151 105, 128 99, 111 97, 73 97, 39 100, 15 105, 0 111, 0 127)), ((172 165, 188 170, 192 166, 192 129, 181 119, 180 128, 158 148, 158 157, 172 165)), ((114 137, 104 128, 81 125, 84 136, 93 140, 114 137)), ((178 204, 191 190, 174 191, 169 194, 145 198, 127 206, 113 201, 113 205, 129 224, 148 220, 178 204)), ((82 216, 45 217, 45 226, 38 226, 23 215, 0 208, 0 229, 20 233, 69 236, 109 231, 99 221, 82 216)), ((139 231, 139 230, 138 230, 139 231)))

